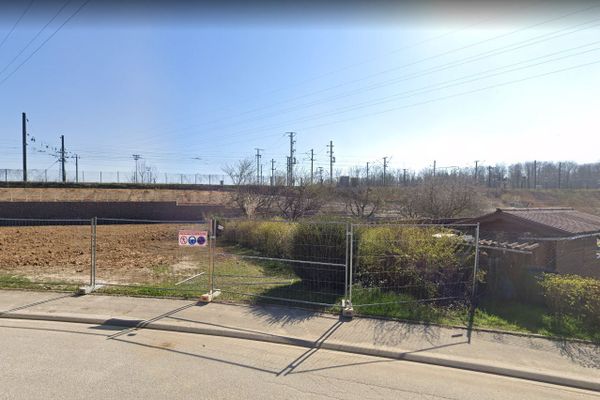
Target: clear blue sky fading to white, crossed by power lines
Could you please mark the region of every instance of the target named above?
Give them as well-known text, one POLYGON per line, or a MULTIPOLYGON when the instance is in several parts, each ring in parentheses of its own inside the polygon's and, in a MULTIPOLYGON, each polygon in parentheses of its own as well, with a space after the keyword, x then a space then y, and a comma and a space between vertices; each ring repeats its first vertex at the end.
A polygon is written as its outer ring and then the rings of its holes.
POLYGON ((600 2, 190 4, 0 6, 0 169, 600 160, 600 2))

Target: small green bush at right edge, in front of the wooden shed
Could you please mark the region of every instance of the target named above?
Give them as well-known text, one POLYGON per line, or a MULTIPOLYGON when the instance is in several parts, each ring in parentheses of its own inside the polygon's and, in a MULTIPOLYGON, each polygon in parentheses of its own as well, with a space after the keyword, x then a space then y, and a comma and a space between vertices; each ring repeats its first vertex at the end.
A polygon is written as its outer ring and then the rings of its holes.
POLYGON ((600 328, 600 280, 544 274, 540 284, 551 312, 575 317, 589 328, 600 328))

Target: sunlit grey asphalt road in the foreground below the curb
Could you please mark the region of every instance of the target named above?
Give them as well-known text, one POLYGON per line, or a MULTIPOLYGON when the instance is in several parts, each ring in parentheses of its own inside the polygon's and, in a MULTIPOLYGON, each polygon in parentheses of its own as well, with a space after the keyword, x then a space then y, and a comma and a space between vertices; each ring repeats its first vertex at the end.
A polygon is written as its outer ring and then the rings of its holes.
POLYGON ((0 320, 0 399, 600 399, 599 393, 195 334, 0 320))

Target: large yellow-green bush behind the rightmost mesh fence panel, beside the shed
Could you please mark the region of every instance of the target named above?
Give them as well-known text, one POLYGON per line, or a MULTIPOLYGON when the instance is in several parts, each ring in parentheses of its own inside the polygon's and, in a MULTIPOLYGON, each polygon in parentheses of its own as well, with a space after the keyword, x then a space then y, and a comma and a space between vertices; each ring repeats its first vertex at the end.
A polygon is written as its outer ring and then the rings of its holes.
POLYGON ((417 298, 465 294, 472 256, 449 229, 373 226, 358 232, 355 271, 363 287, 403 287, 417 298), (451 284, 450 284, 451 283, 451 284))

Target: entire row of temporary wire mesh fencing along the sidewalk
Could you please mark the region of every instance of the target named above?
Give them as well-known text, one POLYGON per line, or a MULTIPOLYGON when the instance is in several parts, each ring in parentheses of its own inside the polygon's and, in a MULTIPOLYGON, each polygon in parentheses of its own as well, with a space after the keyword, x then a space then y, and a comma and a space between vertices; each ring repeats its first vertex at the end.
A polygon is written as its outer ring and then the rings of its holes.
POLYGON ((0 285, 27 279, 149 295, 220 293, 387 315, 406 304, 468 304, 478 235, 477 225, 1 219, 0 285))

